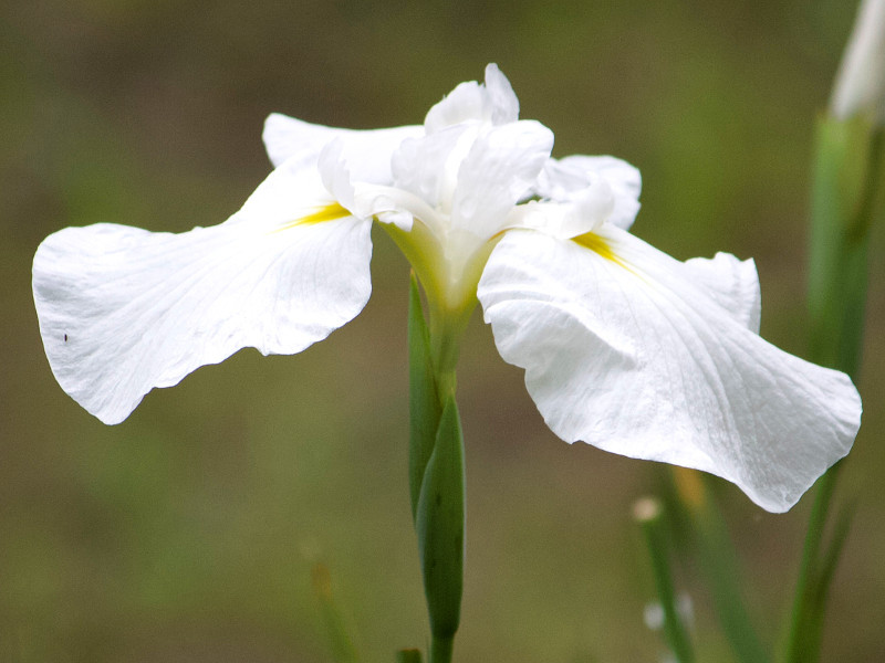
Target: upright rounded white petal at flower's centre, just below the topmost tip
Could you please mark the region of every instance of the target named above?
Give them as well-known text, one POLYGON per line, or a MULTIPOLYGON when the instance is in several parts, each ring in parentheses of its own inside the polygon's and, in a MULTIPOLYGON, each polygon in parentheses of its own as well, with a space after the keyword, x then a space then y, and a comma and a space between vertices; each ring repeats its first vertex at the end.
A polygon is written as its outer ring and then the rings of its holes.
POLYGON ((480 134, 458 170, 452 227, 483 238, 498 232, 538 178, 551 149, 553 133, 534 120, 480 134))

